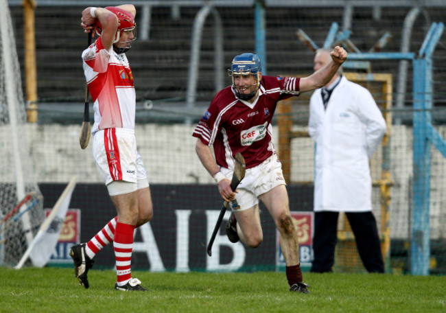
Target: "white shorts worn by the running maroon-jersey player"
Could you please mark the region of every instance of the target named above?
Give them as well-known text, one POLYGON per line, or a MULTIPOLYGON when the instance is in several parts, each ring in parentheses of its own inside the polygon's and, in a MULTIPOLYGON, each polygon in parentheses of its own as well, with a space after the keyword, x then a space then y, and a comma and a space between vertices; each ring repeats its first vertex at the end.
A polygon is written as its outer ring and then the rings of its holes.
MULTIPOLYGON (((221 171, 228 179, 232 179, 233 171, 225 167, 222 167, 221 171)), ((258 205, 259 196, 279 185, 286 185, 282 163, 277 159, 277 154, 272 154, 256 167, 246 170, 245 177, 237 187, 238 193, 235 194, 240 206, 237 211, 244 211, 258 205)))

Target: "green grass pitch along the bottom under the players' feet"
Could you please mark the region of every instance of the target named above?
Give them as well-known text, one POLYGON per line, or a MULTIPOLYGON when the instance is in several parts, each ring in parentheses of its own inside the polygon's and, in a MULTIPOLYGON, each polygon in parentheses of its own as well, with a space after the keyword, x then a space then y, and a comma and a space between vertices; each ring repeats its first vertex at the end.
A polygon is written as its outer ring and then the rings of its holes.
POLYGON ((0 312, 446 312, 445 276, 133 271, 149 292, 114 289, 113 270, 90 270, 84 289, 67 268, 0 268, 0 312))

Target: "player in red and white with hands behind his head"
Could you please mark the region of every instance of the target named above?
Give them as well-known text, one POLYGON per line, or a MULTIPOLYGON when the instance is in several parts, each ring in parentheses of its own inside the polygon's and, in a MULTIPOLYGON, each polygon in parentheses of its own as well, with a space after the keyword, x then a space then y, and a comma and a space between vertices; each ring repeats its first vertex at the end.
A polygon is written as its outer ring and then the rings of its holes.
POLYGON ((84 73, 93 98, 93 157, 97 170, 117 209, 113 218, 89 242, 71 248, 75 277, 89 288, 87 273, 93 257, 113 242, 116 290, 139 290, 141 281, 132 278, 133 233, 152 218, 152 197, 134 136, 136 96, 132 69, 125 52, 136 39, 132 4, 89 7, 82 11, 84 32, 97 30, 99 38, 82 53, 84 73))

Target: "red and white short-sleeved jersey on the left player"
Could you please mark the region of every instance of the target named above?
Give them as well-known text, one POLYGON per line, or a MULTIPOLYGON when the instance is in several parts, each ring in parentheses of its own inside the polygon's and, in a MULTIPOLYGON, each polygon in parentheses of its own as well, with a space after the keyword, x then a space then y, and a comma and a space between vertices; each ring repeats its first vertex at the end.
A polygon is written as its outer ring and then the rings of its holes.
POLYGON ((92 133, 106 128, 134 130, 136 93, 126 54, 104 49, 101 37, 82 52, 95 123, 92 133))

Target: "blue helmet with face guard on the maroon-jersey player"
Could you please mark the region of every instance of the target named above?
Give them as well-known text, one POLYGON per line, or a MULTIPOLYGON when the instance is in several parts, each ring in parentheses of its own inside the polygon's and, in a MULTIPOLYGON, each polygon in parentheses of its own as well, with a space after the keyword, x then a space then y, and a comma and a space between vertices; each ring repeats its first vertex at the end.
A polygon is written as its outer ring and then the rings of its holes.
POLYGON ((235 56, 233 59, 233 62, 231 64, 231 69, 228 69, 228 75, 231 76, 232 82, 233 82, 233 89, 235 90, 235 95, 239 97, 239 99, 242 100, 250 100, 252 99, 257 91, 259 90, 260 86, 260 80, 259 80, 259 73, 261 72, 261 63, 259 56, 257 54, 239 54, 238 56, 235 56), (250 86, 257 86, 257 88, 248 94, 239 93, 237 87, 235 86, 234 82, 234 75, 242 75, 242 76, 255 76, 255 79, 257 82, 255 84, 252 84, 250 86))

